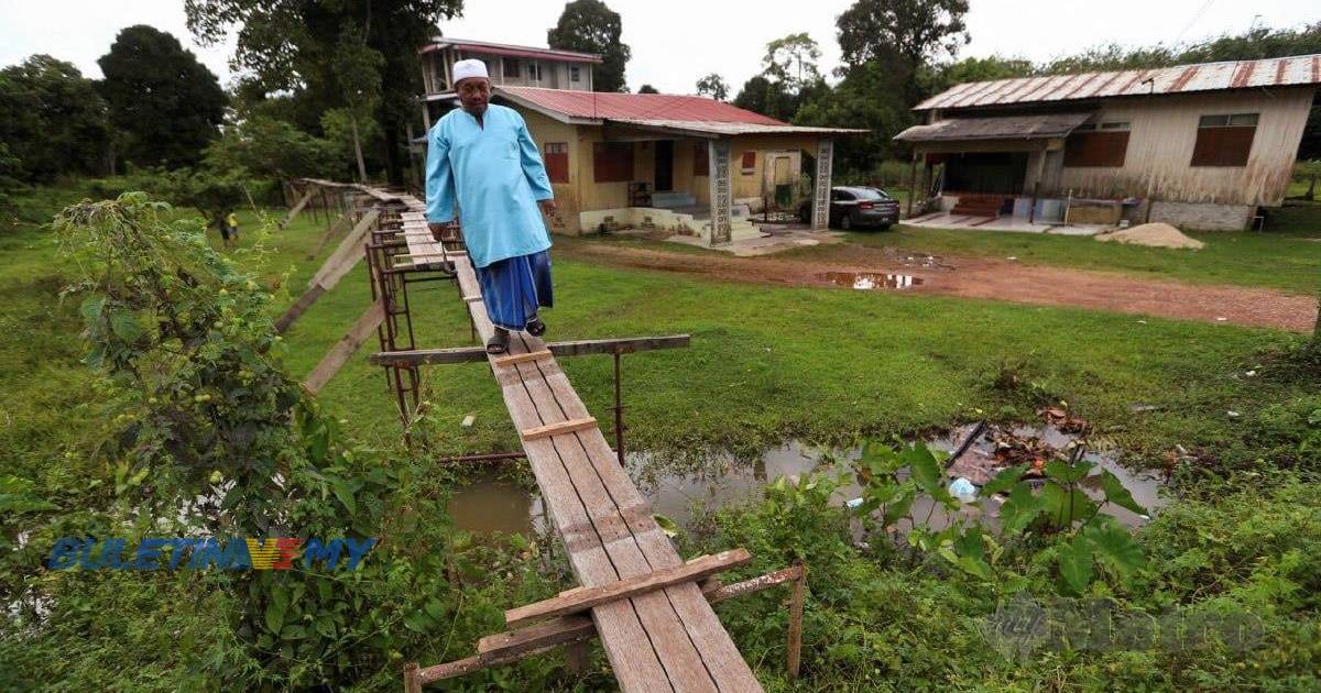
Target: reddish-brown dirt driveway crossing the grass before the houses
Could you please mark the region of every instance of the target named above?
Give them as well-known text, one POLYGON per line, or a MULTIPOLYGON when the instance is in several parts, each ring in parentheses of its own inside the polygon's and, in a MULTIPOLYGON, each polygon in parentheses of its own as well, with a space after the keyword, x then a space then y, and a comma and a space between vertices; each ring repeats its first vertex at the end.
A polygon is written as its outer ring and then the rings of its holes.
POLYGON ((893 248, 847 243, 824 249, 811 260, 725 257, 593 242, 565 243, 560 249, 569 257, 616 267, 789 286, 836 286, 828 277, 831 272, 901 273, 921 280, 902 293, 1077 306, 1296 333, 1312 331, 1317 314, 1314 297, 1273 289, 1186 284, 1115 272, 1025 265, 991 257, 929 259, 893 248))

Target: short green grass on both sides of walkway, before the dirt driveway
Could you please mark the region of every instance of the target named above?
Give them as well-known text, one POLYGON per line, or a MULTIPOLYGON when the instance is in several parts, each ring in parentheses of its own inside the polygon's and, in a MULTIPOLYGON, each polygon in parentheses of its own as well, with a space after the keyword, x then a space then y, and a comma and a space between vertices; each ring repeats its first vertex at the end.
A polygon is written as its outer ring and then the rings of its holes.
MULTIPOLYGON (((258 236, 256 218, 240 213, 240 223, 235 257, 252 263, 255 257, 243 248, 258 236)), ((324 222, 303 216, 266 242, 271 252, 260 272, 266 277, 289 273, 285 304, 338 242, 309 261, 306 253, 322 230, 324 222)), ((54 424, 79 401, 78 383, 85 381, 82 367, 74 363, 75 306, 57 297, 59 264, 42 231, 12 230, 0 236, 0 249, 5 259, 0 292, 8 297, 7 319, 13 322, 0 335, 7 412, 33 414, 32 425, 49 434, 69 434, 54 424)), ((723 284, 609 269, 563 256, 556 259, 555 281, 557 308, 547 315, 551 338, 692 334, 690 350, 625 358, 634 449, 748 449, 795 436, 826 441, 859 432, 938 428, 979 412, 1030 416, 1018 393, 991 387, 1008 368, 1034 381, 1034 393, 1067 400, 1132 449, 1155 454, 1176 442, 1223 445, 1244 434, 1246 424, 1239 421, 1247 418, 1229 418, 1226 411, 1252 412, 1300 391, 1296 384, 1238 378, 1256 366, 1266 364, 1259 371, 1268 371, 1264 354, 1292 339, 1271 330, 1156 318, 1139 322, 1132 315, 995 301, 723 284), (1132 414, 1133 404, 1164 409, 1132 414)), ((285 335, 291 371, 309 372, 367 304, 366 271, 358 265, 285 335)), ((413 285, 411 305, 419 347, 469 343, 462 305, 448 282, 413 285)), ((382 370, 366 363, 375 348, 369 339, 321 400, 350 432, 391 446, 399 441, 399 421, 382 370)), ((610 360, 564 359, 564 368, 588 408, 609 426, 610 360)), ((517 445, 483 364, 435 366, 424 376, 429 417, 444 445, 454 451, 517 445), (469 413, 477 424, 460 428, 469 413)), ((46 445, 24 446, 49 451, 46 445)))

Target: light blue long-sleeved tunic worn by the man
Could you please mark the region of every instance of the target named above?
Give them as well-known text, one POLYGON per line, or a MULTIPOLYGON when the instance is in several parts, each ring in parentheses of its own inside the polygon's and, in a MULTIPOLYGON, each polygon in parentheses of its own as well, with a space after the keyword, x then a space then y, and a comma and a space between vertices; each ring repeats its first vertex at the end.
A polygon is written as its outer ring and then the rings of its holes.
POLYGON ((454 108, 431 128, 427 148, 427 220, 453 220, 457 202, 478 268, 550 248, 536 202, 555 197, 523 116, 490 104, 482 123, 454 108))

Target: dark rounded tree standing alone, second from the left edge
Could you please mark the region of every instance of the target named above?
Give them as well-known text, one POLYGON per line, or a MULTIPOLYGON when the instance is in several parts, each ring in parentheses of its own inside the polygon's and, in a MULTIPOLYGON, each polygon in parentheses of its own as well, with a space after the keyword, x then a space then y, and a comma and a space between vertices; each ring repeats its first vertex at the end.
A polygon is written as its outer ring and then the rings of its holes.
POLYGON ((123 133, 118 154, 140 166, 186 166, 219 136, 225 91, 173 36, 129 26, 96 61, 111 124, 123 133))

